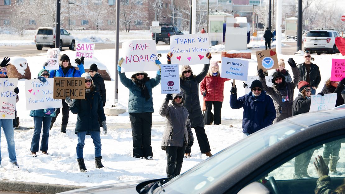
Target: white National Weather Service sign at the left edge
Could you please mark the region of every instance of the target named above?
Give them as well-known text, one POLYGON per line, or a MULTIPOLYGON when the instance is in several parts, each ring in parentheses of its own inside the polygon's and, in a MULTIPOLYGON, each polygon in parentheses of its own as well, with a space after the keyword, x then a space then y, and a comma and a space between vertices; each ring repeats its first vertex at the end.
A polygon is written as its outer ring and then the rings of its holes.
POLYGON ((14 119, 17 94, 14 89, 18 78, 0 78, 0 119, 14 119))

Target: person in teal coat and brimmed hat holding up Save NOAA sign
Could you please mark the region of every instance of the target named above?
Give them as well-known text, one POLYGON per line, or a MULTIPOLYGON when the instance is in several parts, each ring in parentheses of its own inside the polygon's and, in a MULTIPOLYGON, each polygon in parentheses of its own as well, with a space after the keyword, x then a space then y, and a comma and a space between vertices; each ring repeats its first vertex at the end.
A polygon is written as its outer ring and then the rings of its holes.
MULTIPOLYGON (((151 125, 153 98, 152 89, 160 83, 160 71, 157 70, 155 78, 147 76, 144 71, 135 72, 131 79, 121 72, 121 64, 124 58, 120 58, 117 65, 121 83, 129 89, 128 113, 132 126, 133 157, 153 159, 151 147, 151 125)), ((160 61, 156 60, 159 66, 160 61)))

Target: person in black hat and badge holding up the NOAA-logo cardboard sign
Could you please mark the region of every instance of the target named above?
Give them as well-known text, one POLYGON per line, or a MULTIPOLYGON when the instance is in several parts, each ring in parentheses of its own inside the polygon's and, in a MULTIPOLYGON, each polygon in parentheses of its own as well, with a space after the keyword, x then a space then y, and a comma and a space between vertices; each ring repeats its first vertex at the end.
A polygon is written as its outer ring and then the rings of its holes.
POLYGON ((285 76, 280 71, 276 71, 273 74, 272 87, 267 87, 266 79, 263 74, 263 70, 258 70, 258 75, 262 83, 263 89, 266 94, 270 95, 274 101, 276 109, 276 118, 273 123, 277 123, 280 120, 292 116, 292 105, 294 103, 294 88, 297 86, 299 79, 299 71, 293 58, 289 58, 288 61, 292 73, 294 75, 293 81, 286 81, 285 76))

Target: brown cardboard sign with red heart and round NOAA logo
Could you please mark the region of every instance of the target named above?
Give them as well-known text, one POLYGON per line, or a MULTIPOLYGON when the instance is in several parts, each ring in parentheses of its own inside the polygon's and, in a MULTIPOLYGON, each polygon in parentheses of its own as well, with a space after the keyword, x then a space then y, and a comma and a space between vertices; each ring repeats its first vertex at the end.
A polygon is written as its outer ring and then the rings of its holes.
POLYGON ((256 51, 258 69, 268 70, 278 68, 278 58, 276 49, 256 51))

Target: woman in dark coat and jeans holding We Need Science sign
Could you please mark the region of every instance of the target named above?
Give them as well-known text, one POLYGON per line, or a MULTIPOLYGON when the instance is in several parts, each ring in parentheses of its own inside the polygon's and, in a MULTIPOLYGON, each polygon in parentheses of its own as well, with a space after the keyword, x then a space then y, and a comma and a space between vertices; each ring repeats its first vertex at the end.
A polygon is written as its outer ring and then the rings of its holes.
POLYGON ((85 136, 90 134, 93 145, 95 145, 95 162, 96 168, 103 168, 101 156, 101 138, 98 117, 102 121, 104 135, 107 134, 106 115, 103 110, 103 101, 101 95, 96 91, 92 78, 89 73, 84 73, 85 77, 85 99, 70 99, 66 97, 66 103, 73 114, 77 115, 77 124, 75 134, 78 135, 77 144, 77 161, 80 172, 87 172, 83 158, 83 148, 85 145, 85 136))

